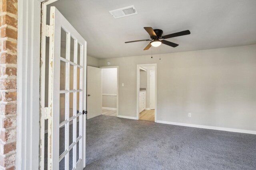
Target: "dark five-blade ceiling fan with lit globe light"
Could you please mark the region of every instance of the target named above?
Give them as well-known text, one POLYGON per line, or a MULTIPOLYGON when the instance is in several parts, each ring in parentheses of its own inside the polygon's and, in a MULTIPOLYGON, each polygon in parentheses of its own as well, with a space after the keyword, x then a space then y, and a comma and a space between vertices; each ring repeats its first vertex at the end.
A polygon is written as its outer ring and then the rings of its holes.
POLYGON ((144 27, 144 29, 148 32, 148 34, 150 35, 151 39, 142 39, 142 40, 136 40, 136 41, 127 41, 125 43, 133 43, 133 42, 138 42, 138 41, 151 41, 146 48, 144 48, 144 50, 148 50, 150 49, 151 46, 153 47, 158 47, 159 45, 161 45, 162 43, 165 45, 169 45, 171 47, 177 47, 178 44, 176 43, 172 43, 170 41, 166 41, 166 40, 160 40, 160 39, 168 39, 168 38, 172 38, 172 37, 178 37, 178 36, 182 36, 182 35, 188 35, 190 34, 189 30, 186 31, 180 31, 177 33, 172 33, 172 34, 168 34, 168 35, 164 35, 162 36, 163 31, 161 29, 153 29, 152 27, 144 27), (152 41, 153 40, 153 41, 152 41))

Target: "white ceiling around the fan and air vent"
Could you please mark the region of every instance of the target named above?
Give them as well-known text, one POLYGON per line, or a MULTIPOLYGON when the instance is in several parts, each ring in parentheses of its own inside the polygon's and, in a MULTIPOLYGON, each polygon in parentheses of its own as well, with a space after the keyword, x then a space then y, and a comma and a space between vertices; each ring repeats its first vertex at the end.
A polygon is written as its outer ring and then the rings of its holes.
POLYGON ((256 44, 256 0, 58 0, 51 4, 87 41, 87 54, 98 59, 149 55, 143 27, 163 35, 189 29, 191 34, 167 39, 179 44, 153 47, 152 53, 174 53, 256 44), (109 11, 134 5, 138 14, 114 19, 109 11))

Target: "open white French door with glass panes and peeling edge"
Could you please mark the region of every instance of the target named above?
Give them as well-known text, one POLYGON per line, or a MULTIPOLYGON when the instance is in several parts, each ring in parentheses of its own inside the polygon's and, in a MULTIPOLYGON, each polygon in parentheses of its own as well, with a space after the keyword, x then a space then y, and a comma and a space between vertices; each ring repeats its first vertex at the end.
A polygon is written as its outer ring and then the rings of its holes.
POLYGON ((48 170, 85 167, 86 41, 50 9, 48 170))

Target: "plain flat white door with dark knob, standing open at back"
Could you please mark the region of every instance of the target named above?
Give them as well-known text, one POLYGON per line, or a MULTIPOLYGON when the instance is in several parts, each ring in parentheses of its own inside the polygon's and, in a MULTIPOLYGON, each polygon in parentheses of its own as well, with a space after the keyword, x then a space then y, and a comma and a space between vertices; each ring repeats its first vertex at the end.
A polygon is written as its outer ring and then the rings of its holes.
POLYGON ((102 114, 102 68, 87 66, 87 119, 102 114))

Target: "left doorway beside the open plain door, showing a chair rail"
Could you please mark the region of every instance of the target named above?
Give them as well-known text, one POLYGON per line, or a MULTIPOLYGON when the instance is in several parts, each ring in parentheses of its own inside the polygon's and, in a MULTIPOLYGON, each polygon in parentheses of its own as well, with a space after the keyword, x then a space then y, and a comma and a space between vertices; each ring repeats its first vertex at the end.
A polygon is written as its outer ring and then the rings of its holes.
POLYGON ((102 115, 118 116, 118 66, 102 68, 102 115))

